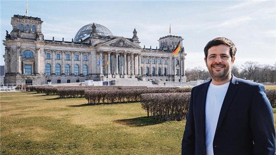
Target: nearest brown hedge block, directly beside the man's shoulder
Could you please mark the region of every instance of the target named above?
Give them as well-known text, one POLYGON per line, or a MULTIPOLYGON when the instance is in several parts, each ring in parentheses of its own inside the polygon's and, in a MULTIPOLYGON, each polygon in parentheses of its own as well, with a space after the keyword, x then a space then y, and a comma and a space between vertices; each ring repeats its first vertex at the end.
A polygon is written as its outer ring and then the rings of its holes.
POLYGON ((185 119, 191 93, 152 93, 141 95, 142 108, 159 121, 185 119))

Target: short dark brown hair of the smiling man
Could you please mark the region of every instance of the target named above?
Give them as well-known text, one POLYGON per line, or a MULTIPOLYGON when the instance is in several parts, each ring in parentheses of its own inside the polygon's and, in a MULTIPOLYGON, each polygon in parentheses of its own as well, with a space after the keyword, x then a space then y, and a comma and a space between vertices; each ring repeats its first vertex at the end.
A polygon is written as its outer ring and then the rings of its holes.
POLYGON ((204 48, 205 58, 207 58, 207 56, 208 56, 208 50, 211 47, 218 46, 218 45, 227 45, 227 46, 229 46, 229 49, 230 49, 229 53, 230 53, 231 58, 235 57, 235 54, 237 52, 237 48, 236 48, 235 44, 228 38, 217 37, 217 38, 209 41, 207 43, 207 45, 205 46, 205 48, 204 48))

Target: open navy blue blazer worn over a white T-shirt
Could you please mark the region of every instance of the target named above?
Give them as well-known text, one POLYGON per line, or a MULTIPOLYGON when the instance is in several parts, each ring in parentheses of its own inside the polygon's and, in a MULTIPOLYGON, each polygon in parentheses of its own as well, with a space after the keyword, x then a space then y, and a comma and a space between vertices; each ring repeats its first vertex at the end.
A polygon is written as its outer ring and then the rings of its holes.
MULTIPOLYGON (((205 101, 211 81, 193 87, 182 155, 205 155, 205 101)), ((273 110, 264 86, 232 75, 215 132, 215 155, 275 154, 273 110)))

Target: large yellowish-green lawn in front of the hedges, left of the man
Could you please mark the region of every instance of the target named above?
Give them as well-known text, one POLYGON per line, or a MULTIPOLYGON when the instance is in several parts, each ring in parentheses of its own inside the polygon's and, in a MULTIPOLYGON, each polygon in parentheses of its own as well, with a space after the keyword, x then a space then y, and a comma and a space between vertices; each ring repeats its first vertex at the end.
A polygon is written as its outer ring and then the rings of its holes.
POLYGON ((0 154, 180 154, 185 121, 152 120, 140 103, 0 95, 0 154))

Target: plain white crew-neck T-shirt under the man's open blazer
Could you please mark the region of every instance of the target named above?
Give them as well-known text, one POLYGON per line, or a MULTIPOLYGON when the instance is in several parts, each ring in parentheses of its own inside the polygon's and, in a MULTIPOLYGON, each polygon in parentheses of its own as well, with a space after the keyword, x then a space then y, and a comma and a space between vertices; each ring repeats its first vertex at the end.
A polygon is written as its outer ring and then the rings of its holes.
POLYGON ((222 85, 209 85, 205 106, 205 143, 207 155, 213 155, 213 141, 217 128, 220 109, 230 82, 222 85))

